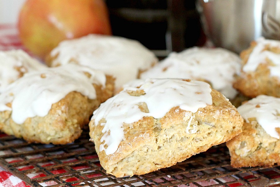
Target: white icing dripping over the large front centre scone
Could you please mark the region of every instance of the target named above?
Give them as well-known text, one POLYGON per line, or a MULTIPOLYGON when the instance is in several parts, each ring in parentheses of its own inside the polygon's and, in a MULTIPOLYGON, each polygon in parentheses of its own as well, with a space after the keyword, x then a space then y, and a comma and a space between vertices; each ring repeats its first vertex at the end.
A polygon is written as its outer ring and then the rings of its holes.
POLYGON ((212 104, 210 85, 202 81, 183 81, 179 79, 147 79, 138 80, 136 84, 140 88, 126 87, 119 94, 102 103, 94 111, 92 119, 97 125, 102 118, 104 133, 101 138, 100 151, 107 155, 113 154, 124 138, 123 123, 133 123, 144 116, 154 118, 163 117, 171 108, 179 106, 181 109, 197 112, 198 108, 204 108, 212 104), (144 95, 131 96, 127 90, 143 90, 144 95), (138 103, 147 103, 149 113, 141 112, 138 103), (105 148, 105 145, 108 147, 105 148))

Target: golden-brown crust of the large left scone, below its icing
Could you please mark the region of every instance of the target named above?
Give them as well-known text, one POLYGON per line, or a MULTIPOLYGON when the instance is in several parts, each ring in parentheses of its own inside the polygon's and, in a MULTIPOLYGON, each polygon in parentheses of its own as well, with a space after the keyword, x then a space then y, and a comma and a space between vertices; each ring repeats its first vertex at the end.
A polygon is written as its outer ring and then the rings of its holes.
MULTIPOLYGON (((44 116, 29 117, 23 124, 12 120, 12 111, 0 112, 0 130, 28 142, 67 144, 80 137, 93 111, 114 92, 114 79, 106 76, 106 87, 94 84, 96 99, 89 99, 79 92, 70 92, 54 103, 44 116)), ((11 104, 11 103, 10 103, 11 104)))

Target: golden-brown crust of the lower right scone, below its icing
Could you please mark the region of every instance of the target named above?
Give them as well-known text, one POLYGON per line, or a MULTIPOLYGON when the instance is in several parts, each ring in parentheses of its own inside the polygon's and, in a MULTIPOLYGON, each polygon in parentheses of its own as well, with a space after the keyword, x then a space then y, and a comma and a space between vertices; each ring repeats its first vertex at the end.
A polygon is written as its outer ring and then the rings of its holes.
POLYGON ((243 132, 226 142, 233 167, 280 164, 280 140, 271 137, 255 118, 244 122, 243 132))

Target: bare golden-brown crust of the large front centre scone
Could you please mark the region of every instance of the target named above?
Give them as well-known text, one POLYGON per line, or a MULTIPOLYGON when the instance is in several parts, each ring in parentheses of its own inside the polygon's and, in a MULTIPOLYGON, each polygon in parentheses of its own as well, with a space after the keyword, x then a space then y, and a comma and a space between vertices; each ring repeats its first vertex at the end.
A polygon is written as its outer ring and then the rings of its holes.
MULTIPOLYGON (((110 155, 99 152, 103 136, 100 124, 105 119, 98 125, 91 120, 90 136, 100 164, 117 177, 142 175, 175 165, 235 137, 241 132, 243 118, 221 93, 212 90, 211 95, 213 104, 199 108, 196 113, 174 107, 162 118, 143 117, 138 122, 124 124, 125 138, 110 155), (193 119, 189 123, 190 116, 193 119)), ((147 111, 145 103, 139 108, 147 111)))

